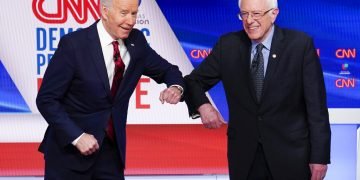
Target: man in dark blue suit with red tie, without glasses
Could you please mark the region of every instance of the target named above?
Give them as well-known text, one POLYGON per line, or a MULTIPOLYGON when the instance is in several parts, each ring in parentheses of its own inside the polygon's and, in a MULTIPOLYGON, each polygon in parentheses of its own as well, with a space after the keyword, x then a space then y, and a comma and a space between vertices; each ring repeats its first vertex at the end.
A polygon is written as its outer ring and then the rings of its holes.
POLYGON ((128 103, 139 78, 168 88, 176 104, 184 82, 133 29, 138 0, 101 0, 101 19, 61 38, 37 96, 49 124, 39 150, 45 179, 124 179, 128 103))

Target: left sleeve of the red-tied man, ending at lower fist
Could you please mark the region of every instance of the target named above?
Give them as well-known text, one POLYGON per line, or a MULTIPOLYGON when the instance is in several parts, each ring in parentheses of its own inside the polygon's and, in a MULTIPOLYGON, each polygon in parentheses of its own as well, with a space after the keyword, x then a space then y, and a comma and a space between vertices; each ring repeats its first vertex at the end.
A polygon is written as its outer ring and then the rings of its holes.
POLYGON ((47 67, 36 98, 40 113, 49 128, 55 131, 56 140, 63 147, 71 144, 83 133, 82 129, 71 121, 62 103, 75 74, 72 51, 71 44, 64 36, 47 67))

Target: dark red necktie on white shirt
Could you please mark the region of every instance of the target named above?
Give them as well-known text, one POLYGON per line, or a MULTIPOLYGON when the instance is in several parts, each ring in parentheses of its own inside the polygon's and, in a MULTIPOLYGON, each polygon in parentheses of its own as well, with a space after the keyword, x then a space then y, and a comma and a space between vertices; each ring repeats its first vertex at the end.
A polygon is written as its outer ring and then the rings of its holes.
MULTIPOLYGON (((118 41, 113 41, 112 45, 113 45, 113 48, 114 48, 113 58, 114 58, 114 62, 115 62, 115 71, 114 71, 115 75, 114 75, 112 85, 111 85, 111 96, 112 96, 112 98, 114 100, 114 98, 116 96, 116 92, 119 89, 119 85, 120 85, 121 80, 123 78, 123 74, 124 74, 124 70, 125 70, 125 64, 122 61, 121 56, 120 56, 119 42, 118 41)), ((113 122, 112 117, 110 117, 108 126, 106 128, 106 133, 107 133, 107 136, 113 142, 115 142, 114 122, 113 122)))

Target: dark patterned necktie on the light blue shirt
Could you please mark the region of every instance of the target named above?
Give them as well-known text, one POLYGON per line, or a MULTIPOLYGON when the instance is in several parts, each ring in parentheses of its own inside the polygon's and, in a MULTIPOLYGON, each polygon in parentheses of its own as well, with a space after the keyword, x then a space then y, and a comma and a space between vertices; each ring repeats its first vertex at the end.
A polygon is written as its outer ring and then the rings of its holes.
POLYGON ((256 46, 256 54, 251 64, 251 76, 256 91, 257 102, 260 103, 264 86, 264 56, 262 54, 263 44, 256 46))

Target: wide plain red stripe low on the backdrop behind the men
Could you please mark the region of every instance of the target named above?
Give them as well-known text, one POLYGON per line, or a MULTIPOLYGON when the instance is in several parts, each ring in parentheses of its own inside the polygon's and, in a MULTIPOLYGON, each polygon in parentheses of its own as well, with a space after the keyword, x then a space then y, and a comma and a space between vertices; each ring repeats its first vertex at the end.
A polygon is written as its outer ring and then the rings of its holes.
MULTIPOLYGON (((227 174, 226 127, 128 125, 127 175, 227 174)), ((0 176, 42 176, 39 143, 0 143, 0 176)))

